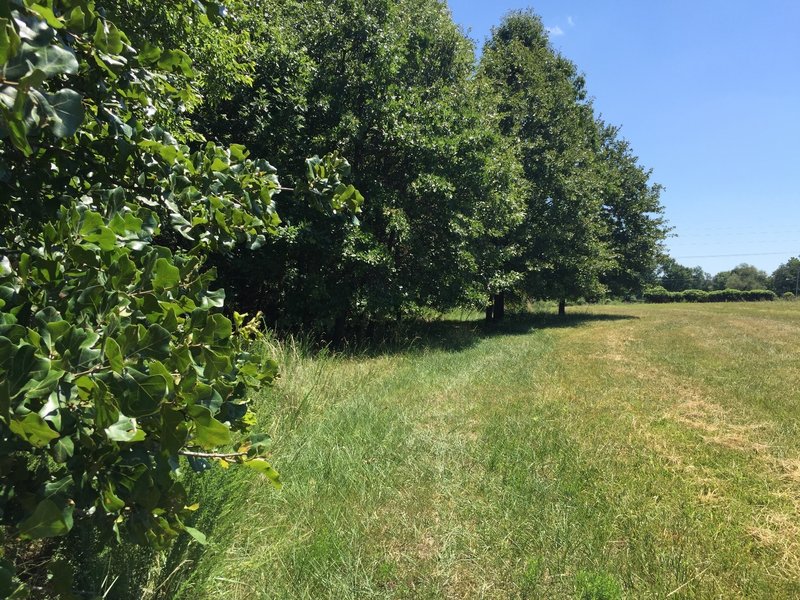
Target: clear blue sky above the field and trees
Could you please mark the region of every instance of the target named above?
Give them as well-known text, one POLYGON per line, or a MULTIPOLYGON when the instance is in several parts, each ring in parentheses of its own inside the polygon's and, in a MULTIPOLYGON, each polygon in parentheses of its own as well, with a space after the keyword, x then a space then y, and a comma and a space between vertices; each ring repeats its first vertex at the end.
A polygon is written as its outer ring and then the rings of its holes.
POLYGON ((479 47, 509 10, 542 17, 596 111, 666 187, 678 262, 772 272, 800 255, 800 1, 448 5, 479 47))

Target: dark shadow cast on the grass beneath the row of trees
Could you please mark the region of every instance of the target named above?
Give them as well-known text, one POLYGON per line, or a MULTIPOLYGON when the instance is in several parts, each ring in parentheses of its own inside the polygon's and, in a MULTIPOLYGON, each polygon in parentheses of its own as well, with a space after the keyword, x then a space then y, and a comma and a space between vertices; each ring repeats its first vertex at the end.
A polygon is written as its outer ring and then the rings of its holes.
POLYGON ((511 313, 503 321, 487 323, 483 319, 416 319, 385 329, 376 328, 371 339, 350 341, 338 352, 346 356, 377 357, 431 350, 460 352, 481 340, 505 336, 527 335, 533 331, 582 327, 602 321, 626 321, 639 317, 624 314, 511 313))

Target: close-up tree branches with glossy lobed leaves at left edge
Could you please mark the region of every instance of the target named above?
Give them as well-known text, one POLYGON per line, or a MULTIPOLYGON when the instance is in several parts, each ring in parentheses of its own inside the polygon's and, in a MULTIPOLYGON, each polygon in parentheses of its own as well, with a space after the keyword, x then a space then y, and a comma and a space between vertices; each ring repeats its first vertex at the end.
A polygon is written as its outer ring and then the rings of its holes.
MULTIPOLYGON (((209 18, 198 2, 171 6, 209 18)), ((199 100, 187 54, 156 41, 134 46, 88 0, 0 3, 4 597, 26 593, 14 573, 31 540, 202 541, 182 460, 280 484, 264 436, 248 433, 248 391, 276 365, 251 352, 254 321, 223 314, 206 259, 263 244, 283 188, 243 146, 164 128, 199 100)), ((346 171, 310 159, 297 193, 356 211, 346 171)), ((27 581, 70 597, 64 564, 46 568, 49 582, 27 581)))

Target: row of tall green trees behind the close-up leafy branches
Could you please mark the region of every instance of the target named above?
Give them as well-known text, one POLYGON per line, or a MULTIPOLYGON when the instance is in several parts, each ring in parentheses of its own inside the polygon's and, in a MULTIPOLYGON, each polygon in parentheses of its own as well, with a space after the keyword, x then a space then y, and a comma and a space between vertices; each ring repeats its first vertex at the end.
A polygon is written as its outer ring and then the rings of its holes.
POLYGON ((533 13, 509 14, 479 62, 434 0, 263 1, 239 19, 253 68, 192 126, 289 186, 337 151, 366 198, 354 219, 278 197, 277 235, 215 262, 242 310, 339 339, 420 309, 500 319, 508 296, 636 293, 652 272, 661 188, 533 13))

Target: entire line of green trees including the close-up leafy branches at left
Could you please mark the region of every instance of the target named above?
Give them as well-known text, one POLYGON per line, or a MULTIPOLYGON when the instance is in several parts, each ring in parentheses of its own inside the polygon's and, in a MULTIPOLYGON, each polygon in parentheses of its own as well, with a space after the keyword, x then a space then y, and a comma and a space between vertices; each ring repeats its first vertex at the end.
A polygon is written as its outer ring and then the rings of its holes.
POLYGON ((577 67, 528 11, 474 50, 437 0, 0 1, 0 596, 202 543, 181 465, 280 485, 263 320, 641 290, 660 187, 577 67))

